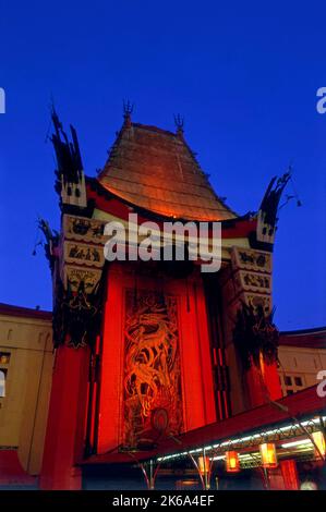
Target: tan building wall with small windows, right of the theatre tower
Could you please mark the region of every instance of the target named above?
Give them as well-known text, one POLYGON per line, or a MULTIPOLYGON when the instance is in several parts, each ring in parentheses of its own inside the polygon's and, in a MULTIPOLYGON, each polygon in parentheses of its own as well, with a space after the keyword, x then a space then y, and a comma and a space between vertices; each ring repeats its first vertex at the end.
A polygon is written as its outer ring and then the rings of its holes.
POLYGON ((325 349, 279 346, 278 369, 283 395, 292 394, 304 388, 315 386, 317 374, 326 369, 326 344, 325 349))

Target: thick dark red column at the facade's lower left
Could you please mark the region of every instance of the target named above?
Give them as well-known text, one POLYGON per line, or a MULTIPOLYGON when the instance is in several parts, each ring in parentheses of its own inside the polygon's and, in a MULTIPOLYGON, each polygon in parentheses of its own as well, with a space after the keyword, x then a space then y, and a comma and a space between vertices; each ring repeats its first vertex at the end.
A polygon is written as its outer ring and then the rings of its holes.
POLYGON ((41 489, 81 489, 87 405, 88 349, 59 346, 45 440, 41 489))

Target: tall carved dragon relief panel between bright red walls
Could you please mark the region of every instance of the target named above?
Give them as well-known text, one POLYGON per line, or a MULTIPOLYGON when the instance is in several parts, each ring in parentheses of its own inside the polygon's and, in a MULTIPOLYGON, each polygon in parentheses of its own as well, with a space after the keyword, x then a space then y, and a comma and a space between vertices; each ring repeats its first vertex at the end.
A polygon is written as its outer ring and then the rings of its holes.
POLYGON ((182 429, 176 297, 128 292, 124 337, 123 446, 140 449, 182 429))

